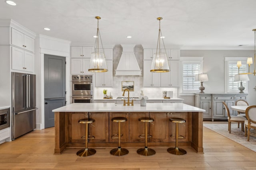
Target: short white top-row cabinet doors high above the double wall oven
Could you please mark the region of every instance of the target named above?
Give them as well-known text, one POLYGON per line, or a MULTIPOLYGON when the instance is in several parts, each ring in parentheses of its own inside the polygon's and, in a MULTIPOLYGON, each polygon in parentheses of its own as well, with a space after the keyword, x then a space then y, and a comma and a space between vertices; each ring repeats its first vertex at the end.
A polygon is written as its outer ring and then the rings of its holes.
POLYGON ((72 58, 91 58, 94 47, 90 46, 71 46, 72 58))

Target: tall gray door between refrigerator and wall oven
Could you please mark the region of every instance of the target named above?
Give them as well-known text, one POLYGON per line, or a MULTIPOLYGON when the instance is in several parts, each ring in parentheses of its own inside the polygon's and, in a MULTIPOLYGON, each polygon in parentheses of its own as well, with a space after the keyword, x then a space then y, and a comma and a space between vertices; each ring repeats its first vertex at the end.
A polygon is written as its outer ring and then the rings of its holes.
POLYGON ((44 55, 44 127, 54 127, 52 109, 66 105, 66 58, 44 55))

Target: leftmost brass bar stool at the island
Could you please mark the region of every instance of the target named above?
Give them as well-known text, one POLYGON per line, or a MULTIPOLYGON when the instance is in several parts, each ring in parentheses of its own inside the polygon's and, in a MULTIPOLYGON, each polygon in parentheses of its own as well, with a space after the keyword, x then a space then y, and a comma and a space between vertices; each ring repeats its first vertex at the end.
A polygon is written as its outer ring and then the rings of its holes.
POLYGON ((82 136, 82 139, 85 139, 85 148, 78 150, 76 154, 78 156, 91 156, 96 153, 95 149, 88 148, 88 139, 94 139, 94 136, 88 135, 88 124, 94 122, 94 119, 80 119, 78 123, 85 124, 85 136, 82 136))

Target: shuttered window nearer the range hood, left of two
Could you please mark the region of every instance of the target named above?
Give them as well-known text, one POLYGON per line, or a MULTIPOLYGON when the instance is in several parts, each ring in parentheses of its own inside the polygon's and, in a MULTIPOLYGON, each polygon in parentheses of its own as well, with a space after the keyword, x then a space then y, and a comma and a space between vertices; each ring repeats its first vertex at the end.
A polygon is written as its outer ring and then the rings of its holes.
POLYGON ((180 57, 181 60, 181 92, 199 92, 200 82, 195 82, 195 74, 201 74, 203 57, 180 57))

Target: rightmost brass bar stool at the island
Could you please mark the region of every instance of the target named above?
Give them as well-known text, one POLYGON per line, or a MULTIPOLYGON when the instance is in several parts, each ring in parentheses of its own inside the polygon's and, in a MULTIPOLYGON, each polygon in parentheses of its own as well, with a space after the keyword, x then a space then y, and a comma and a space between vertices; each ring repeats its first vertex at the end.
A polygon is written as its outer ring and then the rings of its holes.
MULTIPOLYGON (((185 123, 186 121, 185 121, 185 119, 176 118, 176 117, 170 118, 170 121, 173 122, 173 123, 176 123, 176 133, 175 133, 176 142, 175 142, 175 147, 168 148, 167 151, 171 154, 177 154, 177 155, 186 154, 187 153, 186 150, 178 148, 178 138, 179 138, 179 135, 178 135, 179 125, 178 125, 178 123, 185 123)), ((184 138, 184 137, 182 137, 182 138, 184 138)))

